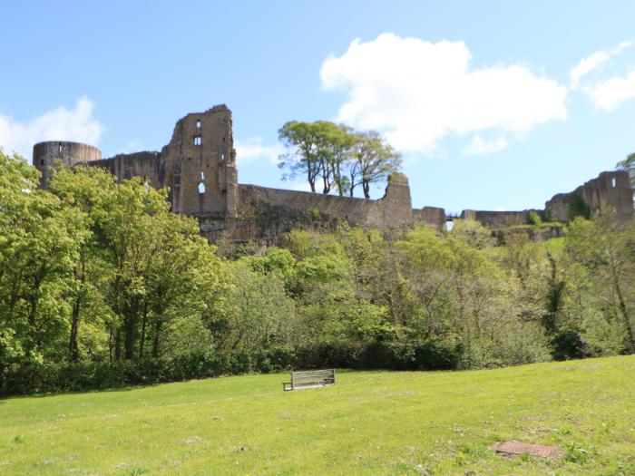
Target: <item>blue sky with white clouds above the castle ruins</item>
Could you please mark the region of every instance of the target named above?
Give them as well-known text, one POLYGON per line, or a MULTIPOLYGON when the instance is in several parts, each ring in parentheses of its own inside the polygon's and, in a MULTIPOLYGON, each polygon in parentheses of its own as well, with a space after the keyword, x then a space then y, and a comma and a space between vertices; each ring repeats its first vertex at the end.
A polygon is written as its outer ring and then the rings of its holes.
MULTIPOLYGON (((635 151, 633 2, 0 0, 0 146, 161 150, 226 103, 239 180, 280 180, 288 120, 405 157, 415 207, 541 208, 635 151)), ((381 196, 382 190, 374 195, 381 196)))

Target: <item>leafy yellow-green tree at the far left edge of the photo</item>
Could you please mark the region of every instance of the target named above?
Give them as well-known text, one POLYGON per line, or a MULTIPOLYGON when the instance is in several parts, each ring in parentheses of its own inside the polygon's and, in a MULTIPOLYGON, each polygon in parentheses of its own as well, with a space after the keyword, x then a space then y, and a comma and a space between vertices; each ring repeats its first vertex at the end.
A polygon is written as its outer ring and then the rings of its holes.
MULTIPOLYGON (((0 150, 0 380, 9 364, 61 353, 83 214, 37 189, 39 172, 0 150)), ((1 384, 1 383, 0 383, 1 384)))

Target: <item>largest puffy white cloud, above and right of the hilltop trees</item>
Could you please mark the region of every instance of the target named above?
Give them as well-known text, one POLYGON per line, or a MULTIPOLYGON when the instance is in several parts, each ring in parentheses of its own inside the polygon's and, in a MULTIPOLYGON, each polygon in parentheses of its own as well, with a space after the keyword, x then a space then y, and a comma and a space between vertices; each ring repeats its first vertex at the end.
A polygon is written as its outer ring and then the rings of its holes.
POLYGON ((383 131, 401 151, 434 151, 453 133, 523 135, 566 119, 566 87, 520 64, 471 70, 470 59, 463 42, 381 34, 327 58, 320 76, 325 89, 347 92, 338 121, 383 131))

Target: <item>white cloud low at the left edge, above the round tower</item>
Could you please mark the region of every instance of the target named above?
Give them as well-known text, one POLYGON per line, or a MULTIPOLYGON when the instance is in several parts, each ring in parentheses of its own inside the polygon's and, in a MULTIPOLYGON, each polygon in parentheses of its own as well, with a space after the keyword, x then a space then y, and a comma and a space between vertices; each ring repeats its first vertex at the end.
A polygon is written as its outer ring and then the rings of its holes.
POLYGON ((103 125, 93 117, 93 102, 86 96, 72 110, 60 106, 44 112, 31 121, 15 121, 0 114, 0 147, 5 152, 16 151, 31 159, 33 146, 40 141, 76 141, 97 145, 103 125))

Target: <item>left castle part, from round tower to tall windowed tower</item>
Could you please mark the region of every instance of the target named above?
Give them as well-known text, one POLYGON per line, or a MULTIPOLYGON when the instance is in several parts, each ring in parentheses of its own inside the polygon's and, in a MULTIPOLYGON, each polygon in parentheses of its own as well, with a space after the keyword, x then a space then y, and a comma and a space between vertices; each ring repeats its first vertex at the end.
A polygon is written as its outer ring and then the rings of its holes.
POLYGON ((172 211, 213 219, 237 214, 238 174, 231 133, 231 112, 225 105, 192 112, 174 126, 161 152, 144 151, 102 159, 102 151, 77 142, 41 142, 34 146, 34 164, 46 187, 55 160, 68 167, 85 163, 109 170, 118 180, 140 177, 156 189, 169 188, 172 211))

